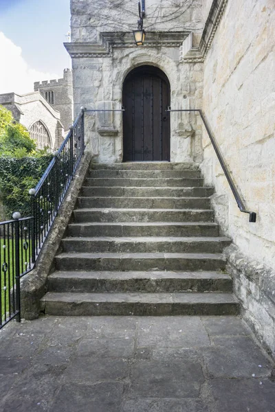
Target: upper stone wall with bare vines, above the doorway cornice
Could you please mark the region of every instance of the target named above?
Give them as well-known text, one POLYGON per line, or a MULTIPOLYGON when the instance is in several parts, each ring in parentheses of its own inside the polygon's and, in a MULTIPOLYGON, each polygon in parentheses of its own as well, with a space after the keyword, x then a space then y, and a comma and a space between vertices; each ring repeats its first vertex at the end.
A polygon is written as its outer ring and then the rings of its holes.
MULTIPOLYGON (((203 30, 202 0, 146 0, 146 32, 203 30)), ((72 42, 97 41, 102 32, 131 32, 137 27, 137 1, 71 0, 72 42)))

